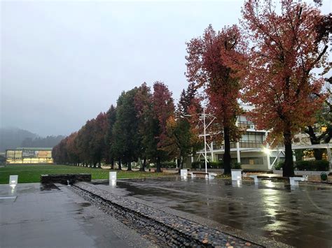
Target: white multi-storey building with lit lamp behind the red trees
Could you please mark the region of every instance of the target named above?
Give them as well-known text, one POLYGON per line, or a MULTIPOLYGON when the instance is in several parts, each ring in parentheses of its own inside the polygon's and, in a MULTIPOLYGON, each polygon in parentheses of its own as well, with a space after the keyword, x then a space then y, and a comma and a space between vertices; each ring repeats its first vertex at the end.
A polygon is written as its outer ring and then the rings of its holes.
MULTIPOLYGON (((247 112, 254 109, 249 105, 241 105, 247 112)), ((268 131, 256 129, 256 125, 250 122, 244 115, 237 118, 237 125, 245 130, 242 138, 237 143, 230 143, 230 156, 233 162, 241 163, 242 169, 246 170, 271 170, 279 161, 284 161, 284 146, 274 147, 273 149, 265 144, 268 131)), ((332 144, 311 145, 310 139, 305 133, 299 133, 293 143, 293 149, 314 149, 326 148, 328 159, 331 161, 332 144), (298 139, 300 138, 300 139, 298 139)), ((188 164, 194 161, 204 161, 204 150, 188 159, 188 164)), ((209 161, 219 161, 223 159, 223 144, 216 145, 212 142, 207 145, 207 159, 209 161)), ((295 161, 295 156, 293 157, 295 161)))

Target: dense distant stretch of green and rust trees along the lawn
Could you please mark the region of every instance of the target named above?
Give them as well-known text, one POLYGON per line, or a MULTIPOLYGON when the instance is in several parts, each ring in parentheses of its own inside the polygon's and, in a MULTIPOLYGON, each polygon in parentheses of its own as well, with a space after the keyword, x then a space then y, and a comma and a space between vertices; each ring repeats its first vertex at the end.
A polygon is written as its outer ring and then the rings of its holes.
POLYGON ((198 138, 197 115, 202 108, 193 84, 181 92, 177 106, 172 93, 162 82, 153 90, 143 83, 118 97, 116 106, 90 119, 53 148, 56 163, 92 167, 106 163, 131 170, 132 162, 140 169, 154 163, 160 172, 163 161, 177 160, 184 166, 189 154, 202 148, 198 138))

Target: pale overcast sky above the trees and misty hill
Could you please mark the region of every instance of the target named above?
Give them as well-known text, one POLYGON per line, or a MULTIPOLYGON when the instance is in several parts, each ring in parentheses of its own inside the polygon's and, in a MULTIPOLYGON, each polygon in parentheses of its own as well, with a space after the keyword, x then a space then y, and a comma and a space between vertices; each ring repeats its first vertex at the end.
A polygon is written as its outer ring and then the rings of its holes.
POLYGON ((243 1, 1 1, 1 126, 67 135, 155 80, 179 98, 186 41, 243 1))

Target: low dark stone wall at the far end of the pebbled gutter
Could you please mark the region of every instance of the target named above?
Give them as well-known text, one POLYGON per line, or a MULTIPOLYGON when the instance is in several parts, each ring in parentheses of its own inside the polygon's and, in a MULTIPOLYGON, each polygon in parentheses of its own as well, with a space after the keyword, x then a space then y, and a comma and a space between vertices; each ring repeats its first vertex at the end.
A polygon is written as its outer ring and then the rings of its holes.
POLYGON ((60 183, 74 184, 74 182, 91 182, 91 174, 49 174, 41 175, 42 184, 60 183))

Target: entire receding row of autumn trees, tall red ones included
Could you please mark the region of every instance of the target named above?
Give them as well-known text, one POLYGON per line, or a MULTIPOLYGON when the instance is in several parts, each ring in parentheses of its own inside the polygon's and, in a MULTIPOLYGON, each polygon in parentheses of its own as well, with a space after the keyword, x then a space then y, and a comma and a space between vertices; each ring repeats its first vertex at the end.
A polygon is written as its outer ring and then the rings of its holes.
MULTIPOLYGON (((105 159, 130 166, 131 161, 142 159, 142 168, 152 161, 158 171, 163 160, 177 158, 183 163, 202 145, 198 139, 202 99, 195 93, 202 88, 207 112, 216 118, 209 138, 224 142, 225 173, 230 173, 230 142, 242 134, 236 124, 242 113, 240 103, 249 103, 255 110, 248 117, 258 129, 271 131, 268 142, 284 143, 284 176, 293 175, 293 135, 313 131, 326 101, 324 79, 312 71, 321 68, 324 75, 329 69, 331 14, 324 16, 318 8, 291 0, 280 1, 279 6, 247 0, 240 27, 214 31, 210 25, 201 37, 188 42, 189 86, 177 108, 161 82, 155 82, 153 92, 145 84, 123 92, 116 108, 62 140, 53 151, 55 160, 99 163, 105 159)), ((325 140, 331 138, 331 130, 324 131, 325 140)))

